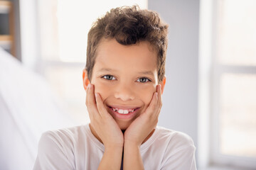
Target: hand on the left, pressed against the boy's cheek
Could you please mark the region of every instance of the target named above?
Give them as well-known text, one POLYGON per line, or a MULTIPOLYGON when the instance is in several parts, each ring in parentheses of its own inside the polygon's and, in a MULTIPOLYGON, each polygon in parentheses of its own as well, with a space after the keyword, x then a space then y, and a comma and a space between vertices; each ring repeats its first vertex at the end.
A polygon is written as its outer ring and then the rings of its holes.
POLYGON ((112 115, 107 112, 100 94, 95 94, 92 84, 86 91, 86 106, 90 116, 90 125, 102 140, 105 149, 123 147, 124 135, 112 115))

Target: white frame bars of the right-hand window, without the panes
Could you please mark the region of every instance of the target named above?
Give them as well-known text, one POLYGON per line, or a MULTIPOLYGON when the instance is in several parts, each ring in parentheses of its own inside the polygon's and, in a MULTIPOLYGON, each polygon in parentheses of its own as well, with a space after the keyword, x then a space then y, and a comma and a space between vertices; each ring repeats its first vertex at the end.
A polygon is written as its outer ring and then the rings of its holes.
POLYGON ((212 37, 212 85, 210 87, 210 163, 217 165, 230 165, 242 167, 243 169, 254 169, 256 167, 256 158, 238 157, 220 153, 220 78, 223 74, 255 74, 256 66, 228 65, 218 63, 218 3, 222 0, 212 1, 213 5, 213 37, 212 37))

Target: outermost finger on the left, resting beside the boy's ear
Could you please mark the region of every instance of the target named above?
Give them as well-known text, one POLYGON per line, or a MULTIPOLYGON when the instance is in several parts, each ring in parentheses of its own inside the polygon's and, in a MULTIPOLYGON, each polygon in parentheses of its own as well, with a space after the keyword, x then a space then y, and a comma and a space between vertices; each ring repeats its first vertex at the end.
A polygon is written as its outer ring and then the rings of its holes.
POLYGON ((98 115, 96 103, 95 103, 95 95, 94 95, 94 86, 92 84, 88 85, 86 91, 86 106, 87 111, 89 113, 90 118, 94 118, 98 115))

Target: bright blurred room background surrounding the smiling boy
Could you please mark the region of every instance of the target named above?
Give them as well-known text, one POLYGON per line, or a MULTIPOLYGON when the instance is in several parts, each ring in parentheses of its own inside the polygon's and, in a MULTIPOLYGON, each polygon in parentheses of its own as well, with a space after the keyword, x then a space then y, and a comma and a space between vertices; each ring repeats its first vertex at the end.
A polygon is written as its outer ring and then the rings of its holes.
POLYGON ((255 0, 0 1, 0 169, 32 169, 42 132, 90 122, 87 32, 134 4, 169 24, 158 125, 193 138, 200 170, 256 169, 255 0))

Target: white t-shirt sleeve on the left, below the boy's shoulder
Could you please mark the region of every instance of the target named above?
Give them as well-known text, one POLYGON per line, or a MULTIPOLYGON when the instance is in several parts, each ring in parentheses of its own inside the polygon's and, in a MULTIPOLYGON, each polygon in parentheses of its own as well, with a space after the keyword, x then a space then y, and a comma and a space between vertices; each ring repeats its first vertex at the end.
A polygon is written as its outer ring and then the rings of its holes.
POLYGON ((70 152, 66 148, 63 137, 54 132, 44 132, 38 143, 38 155, 34 170, 75 169, 70 152))

